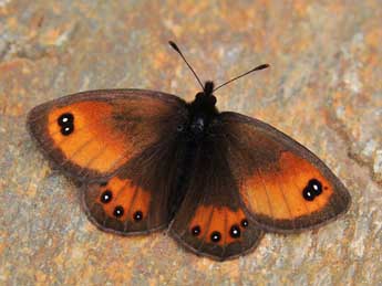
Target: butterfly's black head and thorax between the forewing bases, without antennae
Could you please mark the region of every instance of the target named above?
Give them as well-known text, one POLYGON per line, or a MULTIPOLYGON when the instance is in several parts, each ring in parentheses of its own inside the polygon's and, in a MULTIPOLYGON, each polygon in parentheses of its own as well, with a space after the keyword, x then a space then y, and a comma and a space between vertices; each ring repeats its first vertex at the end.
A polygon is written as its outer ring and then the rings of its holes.
POLYGON ((189 130, 199 136, 208 128, 213 118, 219 113, 216 108, 216 97, 213 95, 214 83, 206 82, 204 91, 197 93, 194 102, 188 104, 189 130))

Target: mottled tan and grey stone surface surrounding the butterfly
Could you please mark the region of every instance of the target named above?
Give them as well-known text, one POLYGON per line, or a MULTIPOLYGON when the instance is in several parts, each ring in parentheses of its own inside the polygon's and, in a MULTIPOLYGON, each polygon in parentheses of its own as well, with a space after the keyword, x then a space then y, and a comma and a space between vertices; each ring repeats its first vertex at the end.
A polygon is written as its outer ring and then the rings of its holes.
POLYGON ((382 2, 0 0, 0 284, 381 285, 382 2), (267 234, 251 254, 216 263, 164 232, 95 229, 75 186, 25 131, 33 106, 85 89, 137 87, 256 116, 321 157, 353 203, 337 222, 267 234))

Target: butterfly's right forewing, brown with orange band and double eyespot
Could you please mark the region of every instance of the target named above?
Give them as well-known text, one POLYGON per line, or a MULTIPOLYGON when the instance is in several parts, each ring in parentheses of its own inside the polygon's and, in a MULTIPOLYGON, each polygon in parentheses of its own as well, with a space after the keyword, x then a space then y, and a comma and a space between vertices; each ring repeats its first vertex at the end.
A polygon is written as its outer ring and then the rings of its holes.
POLYGON ((229 166, 251 218, 267 231, 297 232, 345 212, 350 194, 311 151, 259 120, 223 113, 229 166))

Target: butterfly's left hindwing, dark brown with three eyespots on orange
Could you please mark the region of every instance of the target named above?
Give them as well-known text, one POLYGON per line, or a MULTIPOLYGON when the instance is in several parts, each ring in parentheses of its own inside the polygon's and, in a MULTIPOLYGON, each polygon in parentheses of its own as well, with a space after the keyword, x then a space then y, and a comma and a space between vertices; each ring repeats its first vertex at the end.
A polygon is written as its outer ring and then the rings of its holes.
POLYGON ((177 209, 185 146, 179 135, 168 135, 109 180, 86 183, 83 205, 90 220, 104 231, 122 235, 166 227, 177 209))

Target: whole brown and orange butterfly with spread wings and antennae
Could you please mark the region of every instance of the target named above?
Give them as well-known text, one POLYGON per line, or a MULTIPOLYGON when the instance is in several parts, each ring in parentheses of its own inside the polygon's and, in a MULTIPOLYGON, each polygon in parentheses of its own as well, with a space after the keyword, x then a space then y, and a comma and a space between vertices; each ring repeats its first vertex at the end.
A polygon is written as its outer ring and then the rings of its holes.
POLYGON ((262 121, 219 113, 213 93, 231 81, 203 85, 189 68, 203 87, 192 103, 111 89, 30 112, 32 136, 82 182, 96 226, 122 235, 168 227, 188 250, 224 261, 254 250, 265 232, 313 229, 348 210, 348 190, 319 158, 262 121))

